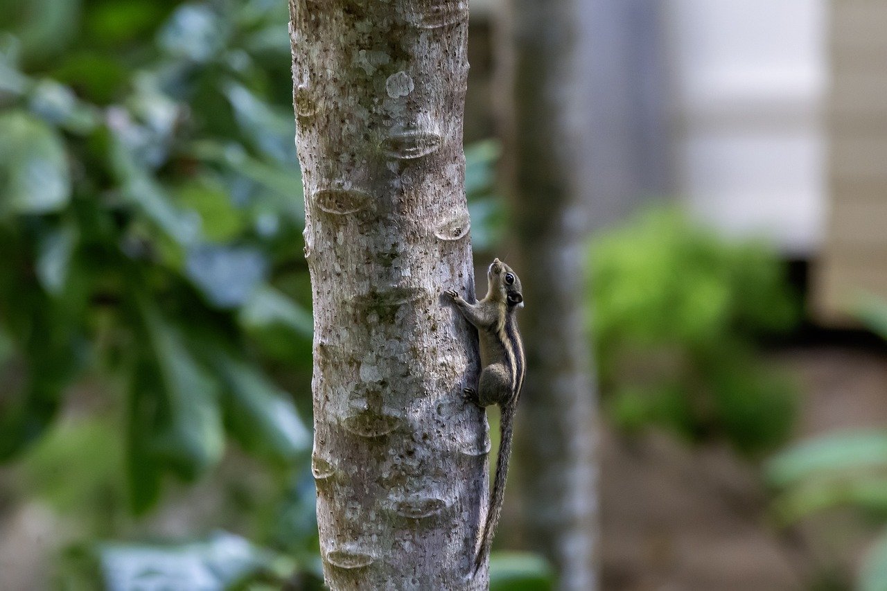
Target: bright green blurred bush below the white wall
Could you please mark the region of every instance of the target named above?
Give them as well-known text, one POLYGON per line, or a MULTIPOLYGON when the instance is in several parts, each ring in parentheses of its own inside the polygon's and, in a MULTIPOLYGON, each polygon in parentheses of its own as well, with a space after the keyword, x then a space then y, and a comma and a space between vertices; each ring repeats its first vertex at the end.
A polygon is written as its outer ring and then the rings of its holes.
POLYGON ((594 240, 590 260, 600 385, 619 426, 659 423, 691 441, 725 437, 748 454, 788 436, 791 385, 754 347, 759 335, 797 321, 769 249, 656 210, 594 240))

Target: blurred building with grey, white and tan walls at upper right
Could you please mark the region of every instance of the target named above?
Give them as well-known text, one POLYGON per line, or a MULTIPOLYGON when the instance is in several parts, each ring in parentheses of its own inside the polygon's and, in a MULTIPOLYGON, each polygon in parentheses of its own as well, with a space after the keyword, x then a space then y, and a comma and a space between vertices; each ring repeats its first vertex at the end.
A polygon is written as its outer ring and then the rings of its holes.
MULTIPOLYGON (((501 1, 475 0, 473 23, 501 1)), ((887 299, 887 4, 586 4, 598 225, 678 199, 726 235, 809 261, 827 324, 862 294, 887 299)))

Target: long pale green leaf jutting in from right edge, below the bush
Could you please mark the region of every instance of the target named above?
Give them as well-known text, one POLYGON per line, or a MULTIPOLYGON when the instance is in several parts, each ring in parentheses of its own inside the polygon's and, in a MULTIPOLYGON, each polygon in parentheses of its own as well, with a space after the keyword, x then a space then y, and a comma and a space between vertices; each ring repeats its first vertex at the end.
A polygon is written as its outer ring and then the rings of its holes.
POLYGON ((771 485, 784 487, 805 478, 877 468, 887 468, 887 432, 881 429, 837 433, 794 445, 766 462, 765 477, 771 485))

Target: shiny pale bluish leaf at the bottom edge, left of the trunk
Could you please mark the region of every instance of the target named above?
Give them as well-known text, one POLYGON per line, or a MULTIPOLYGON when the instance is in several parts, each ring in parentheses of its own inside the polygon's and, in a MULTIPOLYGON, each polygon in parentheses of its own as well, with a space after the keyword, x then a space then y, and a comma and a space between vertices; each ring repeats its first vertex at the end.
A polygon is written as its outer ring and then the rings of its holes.
POLYGON ((102 544, 98 548, 108 591, 214 589, 221 591, 271 567, 271 555, 227 532, 181 545, 102 544))

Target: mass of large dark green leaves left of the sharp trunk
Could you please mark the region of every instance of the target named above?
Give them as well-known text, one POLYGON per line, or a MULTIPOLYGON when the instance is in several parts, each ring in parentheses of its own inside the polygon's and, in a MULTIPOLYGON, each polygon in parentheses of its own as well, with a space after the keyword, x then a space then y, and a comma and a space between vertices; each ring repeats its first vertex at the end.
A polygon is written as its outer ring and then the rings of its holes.
POLYGON ((310 351, 310 324, 292 321, 310 318, 304 296, 272 287, 305 273, 291 263, 301 185, 288 44, 253 49, 256 35, 285 31, 286 6, 182 4, 157 29, 169 11, 152 3, 75 2, 62 35, 12 4, 0 331, 22 377, 0 400, 0 454, 40 437, 85 373, 128 383, 117 445, 136 512, 160 498, 164 473, 193 481, 216 466, 226 431, 291 463, 307 429, 260 362, 267 332, 310 351), (60 46, 32 51, 34 38, 60 46), (103 58, 117 74, 65 83, 59 73, 83 59, 68 44, 119 50, 103 58), (43 61, 50 53, 60 59, 43 61))

